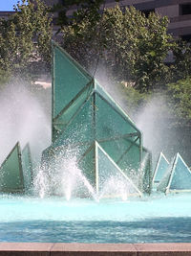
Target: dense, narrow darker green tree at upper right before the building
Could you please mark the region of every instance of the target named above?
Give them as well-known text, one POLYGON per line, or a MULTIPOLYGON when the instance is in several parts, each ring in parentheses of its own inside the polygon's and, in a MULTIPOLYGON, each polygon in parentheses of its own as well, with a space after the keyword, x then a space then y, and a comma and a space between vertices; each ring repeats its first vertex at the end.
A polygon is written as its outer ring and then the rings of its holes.
POLYGON ((172 37, 167 35, 167 17, 151 13, 146 25, 138 35, 137 61, 133 67, 137 88, 141 91, 158 88, 168 81, 169 68, 164 63, 168 52, 174 46, 172 37))

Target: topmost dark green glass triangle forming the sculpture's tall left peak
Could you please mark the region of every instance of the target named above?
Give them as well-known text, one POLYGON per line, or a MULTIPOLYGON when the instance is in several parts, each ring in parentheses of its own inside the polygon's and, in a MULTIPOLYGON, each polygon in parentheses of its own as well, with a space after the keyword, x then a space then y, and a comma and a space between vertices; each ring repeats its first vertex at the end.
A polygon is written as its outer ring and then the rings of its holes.
POLYGON ((90 81, 91 76, 53 43, 53 117, 90 81))

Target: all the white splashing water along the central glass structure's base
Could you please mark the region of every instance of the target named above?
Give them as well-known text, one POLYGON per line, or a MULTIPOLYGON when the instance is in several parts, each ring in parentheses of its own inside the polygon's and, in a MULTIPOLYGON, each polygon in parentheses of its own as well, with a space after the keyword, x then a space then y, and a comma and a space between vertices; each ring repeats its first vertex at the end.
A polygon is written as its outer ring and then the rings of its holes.
POLYGON ((77 164, 77 150, 67 150, 59 153, 49 168, 42 166, 36 171, 34 178, 34 194, 40 198, 51 195, 63 196, 66 200, 71 198, 121 198, 127 200, 136 191, 132 184, 121 174, 108 175, 99 186, 95 187, 88 178, 82 174, 77 164))

